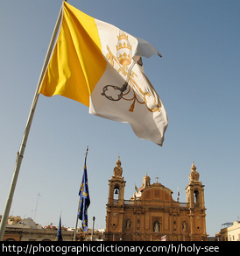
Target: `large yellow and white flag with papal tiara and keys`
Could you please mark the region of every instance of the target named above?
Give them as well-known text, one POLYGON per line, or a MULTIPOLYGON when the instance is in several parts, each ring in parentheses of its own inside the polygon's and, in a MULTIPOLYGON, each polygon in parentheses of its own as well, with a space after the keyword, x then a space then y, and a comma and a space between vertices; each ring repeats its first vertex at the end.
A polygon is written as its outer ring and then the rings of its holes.
POLYGON ((66 96, 98 117, 131 124, 140 139, 162 146, 166 110, 145 76, 148 42, 63 3, 60 32, 41 82, 44 96, 66 96))

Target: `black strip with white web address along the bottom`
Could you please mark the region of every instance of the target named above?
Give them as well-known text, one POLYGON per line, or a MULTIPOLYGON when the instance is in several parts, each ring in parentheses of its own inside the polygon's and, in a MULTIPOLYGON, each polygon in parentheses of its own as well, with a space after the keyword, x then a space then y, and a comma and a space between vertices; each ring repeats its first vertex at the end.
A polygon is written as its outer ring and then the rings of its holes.
POLYGON ((79 255, 82 252, 161 253, 191 255, 236 253, 240 242, 0 242, 3 255, 79 255))

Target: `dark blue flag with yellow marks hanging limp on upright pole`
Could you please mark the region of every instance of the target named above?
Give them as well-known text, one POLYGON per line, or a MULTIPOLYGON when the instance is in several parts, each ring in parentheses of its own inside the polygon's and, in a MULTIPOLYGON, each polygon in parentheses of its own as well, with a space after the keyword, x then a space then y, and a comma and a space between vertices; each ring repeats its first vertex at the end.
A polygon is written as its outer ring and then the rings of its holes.
POLYGON ((78 210, 78 217, 82 222, 82 228, 85 232, 88 231, 88 206, 90 204, 90 197, 88 192, 88 174, 87 174, 87 153, 85 156, 84 170, 81 181, 81 188, 79 191, 80 205, 78 210))

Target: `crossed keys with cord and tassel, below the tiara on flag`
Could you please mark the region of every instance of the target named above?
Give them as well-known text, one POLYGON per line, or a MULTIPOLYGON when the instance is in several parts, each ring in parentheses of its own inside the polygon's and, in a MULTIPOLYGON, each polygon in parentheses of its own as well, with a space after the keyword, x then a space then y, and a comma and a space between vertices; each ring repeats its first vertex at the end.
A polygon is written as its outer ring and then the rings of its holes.
MULTIPOLYGON (((135 103, 145 104, 146 108, 151 112, 160 111, 159 104, 156 101, 156 98, 152 96, 150 92, 144 92, 135 81, 134 77, 137 76, 132 68, 138 63, 138 65, 142 66, 142 60, 132 61, 130 68, 127 66, 121 65, 119 61, 116 59, 116 56, 110 51, 109 46, 107 46, 107 50, 109 53, 106 55, 110 64, 113 66, 114 62, 119 66, 117 70, 118 73, 122 73, 126 77, 126 80, 122 87, 118 87, 116 85, 106 85, 102 89, 102 96, 105 96, 110 101, 120 101, 125 100, 132 102, 129 111, 133 112, 135 103), (137 96, 138 94, 138 96, 137 96), (133 95, 133 96, 132 96, 133 95), (140 97, 140 99, 138 98, 140 97)), ((146 78, 146 77, 145 77, 146 78)), ((146 78, 147 79, 147 78, 146 78)))

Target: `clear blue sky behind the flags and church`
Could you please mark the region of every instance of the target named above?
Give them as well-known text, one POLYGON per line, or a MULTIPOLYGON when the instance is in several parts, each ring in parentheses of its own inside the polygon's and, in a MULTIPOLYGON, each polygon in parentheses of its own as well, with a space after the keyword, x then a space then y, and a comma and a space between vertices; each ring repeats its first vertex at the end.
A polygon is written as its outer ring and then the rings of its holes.
MULTIPOLYGON (((11 215, 42 225, 74 226, 86 146, 91 204, 89 225, 105 227, 108 180, 118 155, 125 199, 147 172, 186 202, 194 160, 205 185, 207 232, 240 216, 239 208, 239 1, 68 1, 88 15, 149 41, 157 55, 144 59, 145 74, 169 119, 162 147, 138 139, 129 124, 88 114, 62 96, 39 96, 11 215)), ((11 184, 60 0, 0 1, 0 213, 11 184)))

